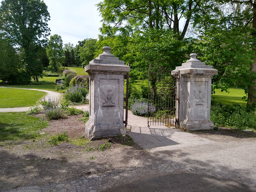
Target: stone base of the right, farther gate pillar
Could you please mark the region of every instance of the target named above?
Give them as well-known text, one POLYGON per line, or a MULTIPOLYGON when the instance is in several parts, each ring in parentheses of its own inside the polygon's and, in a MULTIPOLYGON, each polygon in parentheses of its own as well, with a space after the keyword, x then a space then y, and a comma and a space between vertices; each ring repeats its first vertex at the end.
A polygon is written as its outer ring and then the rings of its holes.
POLYGON ((183 120, 181 127, 186 130, 209 130, 213 129, 213 122, 210 119, 204 120, 183 120))

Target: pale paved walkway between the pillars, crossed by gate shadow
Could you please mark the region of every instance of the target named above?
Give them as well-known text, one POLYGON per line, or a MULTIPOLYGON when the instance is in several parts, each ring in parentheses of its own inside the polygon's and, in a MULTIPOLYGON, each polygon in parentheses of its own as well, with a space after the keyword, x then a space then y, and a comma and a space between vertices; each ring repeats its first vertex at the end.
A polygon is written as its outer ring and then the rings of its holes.
POLYGON ((128 135, 135 143, 148 152, 170 150, 173 148, 209 144, 213 141, 195 134, 164 125, 147 127, 147 118, 136 116, 128 111, 128 135))

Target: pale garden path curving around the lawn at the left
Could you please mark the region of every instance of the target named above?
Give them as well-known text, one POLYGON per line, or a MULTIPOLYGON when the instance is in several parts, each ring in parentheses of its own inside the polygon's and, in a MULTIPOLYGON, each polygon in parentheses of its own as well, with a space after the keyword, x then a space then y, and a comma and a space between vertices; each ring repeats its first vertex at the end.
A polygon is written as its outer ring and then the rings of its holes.
MULTIPOLYGON (((7 87, 7 86, 0 86, 3 88, 16 88, 16 87, 7 87)), ((45 99, 53 98, 53 99, 60 99, 62 97, 62 94, 59 92, 51 91, 51 90, 45 90, 45 89, 35 89, 35 88, 19 88, 19 89, 27 89, 27 90, 38 90, 46 92, 46 95, 44 95, 45 99)), ((13 108, 0 108, 0 112, 23 112, 28 111, 31 106, 24 106, 24 107, 13 107, 13 108)))

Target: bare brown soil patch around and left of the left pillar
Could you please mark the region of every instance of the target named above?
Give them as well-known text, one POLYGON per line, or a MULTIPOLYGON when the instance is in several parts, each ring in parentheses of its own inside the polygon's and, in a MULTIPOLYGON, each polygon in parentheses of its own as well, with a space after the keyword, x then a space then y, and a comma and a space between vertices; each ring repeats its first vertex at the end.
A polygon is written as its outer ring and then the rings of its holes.
MULTIPOLYGON (((44 117, 43 113, 36 116, 44 117)), ((57 183, 134 166, 133 156, 146 154, 128 136, 87 140, 84 122, 78 118, 81 115, 49 120, 50 125, 41 130, 47 135, 34 140, 6 141, 0 145, 0 190, 57 183), (67 132, 69 141, 58 145, 48 142, 51 135, 63 131, 67 132)))

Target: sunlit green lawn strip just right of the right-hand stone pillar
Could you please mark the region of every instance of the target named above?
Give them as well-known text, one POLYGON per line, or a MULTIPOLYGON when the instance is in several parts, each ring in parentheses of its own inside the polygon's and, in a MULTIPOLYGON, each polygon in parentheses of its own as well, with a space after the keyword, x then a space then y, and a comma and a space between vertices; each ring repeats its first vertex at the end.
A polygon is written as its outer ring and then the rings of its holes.
POLYGON ((239 104, 243 107, 246 106, 246 102, 242 100, 242 97, 246 96, 243 89, 229 88, 228 91, 229 93, 215 89, 215 94, 212 94, 212 98, 225 105, 239 104))

